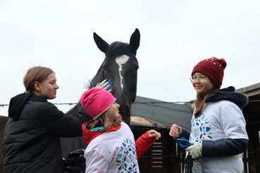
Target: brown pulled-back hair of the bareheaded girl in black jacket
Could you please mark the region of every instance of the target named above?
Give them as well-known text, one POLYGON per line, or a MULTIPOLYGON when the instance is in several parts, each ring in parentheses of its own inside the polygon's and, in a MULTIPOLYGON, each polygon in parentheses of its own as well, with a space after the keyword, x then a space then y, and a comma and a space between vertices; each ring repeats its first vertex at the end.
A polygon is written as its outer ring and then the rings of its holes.
POLYGON ((34 66, 29 68, 23 77, 23 85, 25 86, 25 90, 33 93, 35 91, 35 82, 37 81, 41 83, 46 80, 51 73, 54 73, 51 68, 43 66, 34 66))

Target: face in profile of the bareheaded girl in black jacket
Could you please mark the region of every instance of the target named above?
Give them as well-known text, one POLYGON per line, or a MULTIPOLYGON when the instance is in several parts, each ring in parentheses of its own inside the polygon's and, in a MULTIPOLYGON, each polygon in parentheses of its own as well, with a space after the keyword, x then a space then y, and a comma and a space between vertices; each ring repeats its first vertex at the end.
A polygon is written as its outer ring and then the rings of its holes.
POLYGON ((49 74, 48 78, 41 83, 35 82, 35 94, 44 96, 47 99, 54 99, 57 94, 57 79, 54 73, 49 74))

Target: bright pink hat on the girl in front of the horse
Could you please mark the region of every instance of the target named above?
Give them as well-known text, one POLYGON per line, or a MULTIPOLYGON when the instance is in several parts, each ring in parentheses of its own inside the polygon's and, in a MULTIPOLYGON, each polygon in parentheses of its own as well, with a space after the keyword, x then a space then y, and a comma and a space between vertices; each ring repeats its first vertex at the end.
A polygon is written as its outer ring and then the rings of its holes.
POLYGON ((117 100, 109 91, 101 88, 86 90, 81 96, 81 105, 92 119, 97 119, 117 100))

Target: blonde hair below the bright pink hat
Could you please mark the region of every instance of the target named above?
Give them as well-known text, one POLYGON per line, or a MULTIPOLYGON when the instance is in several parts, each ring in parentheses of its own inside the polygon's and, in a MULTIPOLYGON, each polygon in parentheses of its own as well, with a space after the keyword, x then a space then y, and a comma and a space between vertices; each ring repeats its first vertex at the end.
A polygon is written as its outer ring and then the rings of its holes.
POLYGON ((95 119, 93 121, 90 122, 90 124, 88 124, 87 128, 88 129, 94 129, 95 127, 98 126, 104 126, 105 130, 110 129, 110 126, 112 125, 120 125, 122 122, 121 118, 118 118, 116 120, 114 120, 114 122, 111 123, 110 121, 110 112, 105 111, 100 117, 98 117, 98 119, 95 119))

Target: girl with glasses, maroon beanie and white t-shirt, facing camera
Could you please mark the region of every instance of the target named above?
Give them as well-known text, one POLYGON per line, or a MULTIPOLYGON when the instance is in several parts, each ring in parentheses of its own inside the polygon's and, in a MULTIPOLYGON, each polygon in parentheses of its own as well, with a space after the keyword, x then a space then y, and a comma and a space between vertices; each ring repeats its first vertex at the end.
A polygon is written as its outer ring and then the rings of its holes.
POLYGON ((191 83, 196 90, 194 114, 190 133, 173 124, 170 136, 187 138, 185 172, 242 172, 242 153, 247 149, 248 136, 242 107, 248 97, 235 92, 234 87, 220 89, 225 59, 203 59, 191 72, 191 83), (191 165, 189 165, 191 164, 191 165))

